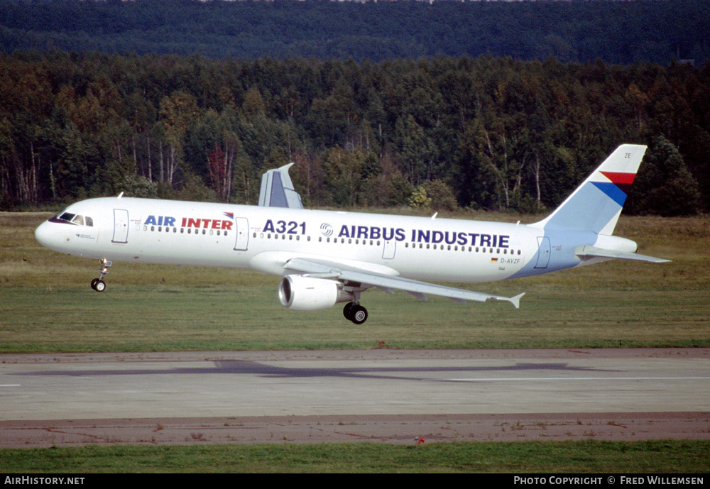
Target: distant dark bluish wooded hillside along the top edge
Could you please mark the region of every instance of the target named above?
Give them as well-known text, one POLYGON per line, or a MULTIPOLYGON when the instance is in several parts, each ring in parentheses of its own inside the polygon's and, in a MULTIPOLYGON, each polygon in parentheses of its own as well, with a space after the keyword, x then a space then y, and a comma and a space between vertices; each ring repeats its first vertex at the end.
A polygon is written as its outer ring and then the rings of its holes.
POLYGON ((381 61, 710 57, 706 0, 0 0, 0 50, 381 61))

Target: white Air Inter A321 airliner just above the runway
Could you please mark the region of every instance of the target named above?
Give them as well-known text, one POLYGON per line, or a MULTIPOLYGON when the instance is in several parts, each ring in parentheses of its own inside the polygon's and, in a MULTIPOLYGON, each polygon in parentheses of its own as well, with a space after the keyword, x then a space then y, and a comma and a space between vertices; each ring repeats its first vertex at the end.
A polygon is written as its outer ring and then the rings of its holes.
POLYGON ((60 253, 99 260, 91 286, 106 289, 116 262, 251 268, 280 276, 285 307, 315 310, 345 303, 363 324, 361 293, 376 288, 455 302, 501 297, 434 282, 493 282, 620 258, 669 260, 636 253, 613 236, 646 147, 619 146, 542 221, 517 224, 304 209, 288 175, 293 163, 262 177, 256 206, 102 197, 70 205, 35 231, 60 253))

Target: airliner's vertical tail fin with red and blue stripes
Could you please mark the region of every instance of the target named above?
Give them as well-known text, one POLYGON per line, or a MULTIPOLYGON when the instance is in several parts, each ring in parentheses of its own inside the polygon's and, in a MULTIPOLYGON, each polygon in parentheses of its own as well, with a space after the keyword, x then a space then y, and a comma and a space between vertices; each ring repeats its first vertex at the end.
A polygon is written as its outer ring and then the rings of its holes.
POLYGON ((532 226, 611 235, 645 151, 644 145, 619 146, 550 216, 532 226))

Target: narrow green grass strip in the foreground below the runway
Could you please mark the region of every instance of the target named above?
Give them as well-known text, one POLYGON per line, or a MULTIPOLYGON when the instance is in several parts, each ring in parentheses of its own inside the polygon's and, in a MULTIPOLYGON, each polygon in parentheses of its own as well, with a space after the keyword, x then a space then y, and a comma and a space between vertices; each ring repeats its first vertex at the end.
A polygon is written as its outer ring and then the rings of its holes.
MULTIPOLYGON (((710 441, 86 446, 0 450, 7 473, 707 473, 710 441)), ((88 478, 84 483, 92 483, 88 478)), ((557 482, 559 483, 559 482, 557 482)))

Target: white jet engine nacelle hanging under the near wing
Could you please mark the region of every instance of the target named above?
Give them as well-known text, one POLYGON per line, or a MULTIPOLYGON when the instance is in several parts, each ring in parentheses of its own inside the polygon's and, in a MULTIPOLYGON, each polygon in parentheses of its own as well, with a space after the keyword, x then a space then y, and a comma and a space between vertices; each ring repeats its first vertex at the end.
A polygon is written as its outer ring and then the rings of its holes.
POLYGON ((278 286, 278 300, 281 305, 297 311, 315 311, 333 307, 336 302, 354 300, 351 292, 342 290, 334 280, 286 275, 278 286))

